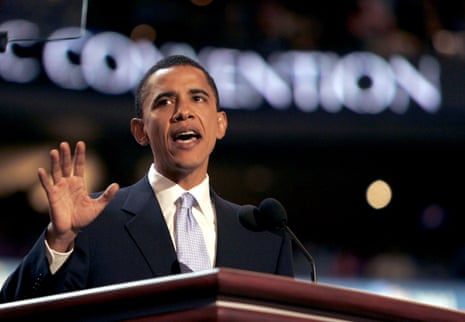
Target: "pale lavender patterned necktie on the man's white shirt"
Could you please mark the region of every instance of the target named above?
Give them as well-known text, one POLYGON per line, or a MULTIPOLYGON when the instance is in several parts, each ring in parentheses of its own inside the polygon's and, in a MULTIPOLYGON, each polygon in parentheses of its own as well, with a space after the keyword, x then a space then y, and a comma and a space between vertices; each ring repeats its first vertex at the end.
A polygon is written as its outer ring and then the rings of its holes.
POLYGON ((210 259, 202 230, 192 214, 194 196, 184 193, 178 200, 176 211, 176 247, 181 272, 193 272, 210 268, 210 259))

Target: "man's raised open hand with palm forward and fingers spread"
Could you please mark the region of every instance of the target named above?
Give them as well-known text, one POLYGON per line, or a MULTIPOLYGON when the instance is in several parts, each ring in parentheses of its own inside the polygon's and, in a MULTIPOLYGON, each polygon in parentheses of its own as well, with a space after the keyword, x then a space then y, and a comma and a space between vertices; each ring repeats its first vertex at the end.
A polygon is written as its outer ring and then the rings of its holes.
POLYGON ((77 142, 74 157, 68 142, 62 142, 59 149, 50 151, 50 174, 44 168, 38 170, 49 203, 47 242, 56 251, 69 250, 79 230, 97 218, 119 189, 112 183, 98 198, 91 198, 84 180, 85 162, 83 141, 77 142))

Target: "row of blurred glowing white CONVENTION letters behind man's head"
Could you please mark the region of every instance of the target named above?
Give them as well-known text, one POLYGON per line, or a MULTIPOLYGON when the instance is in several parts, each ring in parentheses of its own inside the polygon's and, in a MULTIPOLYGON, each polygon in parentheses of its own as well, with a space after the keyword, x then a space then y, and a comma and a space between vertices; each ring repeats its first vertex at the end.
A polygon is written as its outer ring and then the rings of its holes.
MULTIPOLYGON (((32 34, 34 28, 21 21, 13 29, 32 34)), ((358 114, 379 114, 387 108, 404 113, 411 98, 427 112, 437 111, 441 104, 440 66, 430 56, 421 57, 418 70, 402 57, 393 57, 388 63, 369 52, 343 57, 333 52, 276 52, 265 61, 253 51, 208 47, 197 57, 192 46, 185 43, 165 43, 158 50, 151 42, 132 41, 116 32, 88 35, 67 43, 78 54, 83 46, 80 66, 73 66, 66 57, 66 47, 55 43, 45 46, 45 72, 58 86, 89 86, 105 94, 124 94, 134 90, 143 73, 159 58, 184 54, 206 65, 217 81, 220 103, 228 109, 258 109, 266 100, 277 110, 295 107, 309 113, 321 108, 338 113, 347 108, 358 114), (61 52, 49 53, 55 46, 61 52), (366 86, 359 83, 362 77, 369 80, 366 86)), ((40 67, 36 58, 20 58, 10 46, 6 53, 0 53, 0 76, 7 81, 31 82, 40 67)))

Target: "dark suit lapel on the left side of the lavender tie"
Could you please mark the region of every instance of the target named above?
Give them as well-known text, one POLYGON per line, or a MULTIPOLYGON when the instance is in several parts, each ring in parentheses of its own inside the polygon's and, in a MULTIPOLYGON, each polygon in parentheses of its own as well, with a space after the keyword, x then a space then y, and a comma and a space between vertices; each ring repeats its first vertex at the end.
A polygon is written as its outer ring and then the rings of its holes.
POLYGON ((176 252, 158 201, 147 178, 131 188, 123 210, 135 216, 126 229, 146 258, 155 276, 179 270, 176 252))

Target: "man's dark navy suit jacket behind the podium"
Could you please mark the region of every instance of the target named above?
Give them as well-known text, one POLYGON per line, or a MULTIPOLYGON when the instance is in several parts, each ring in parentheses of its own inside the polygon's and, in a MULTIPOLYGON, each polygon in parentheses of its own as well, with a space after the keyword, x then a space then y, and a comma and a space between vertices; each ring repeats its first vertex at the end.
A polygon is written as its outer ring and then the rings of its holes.
MULTIPOLYGON (((239 205, 211 193, 217 213, 216 267, 293 276, 291 241, 284 234, 251 231, 238 220, 239 205)), ((144 177, 121 188, 78 235, 74 252, 50 274, 45 233, 5 281, 3 302, 128 282, 180 272, 158 201, 144 177)))

